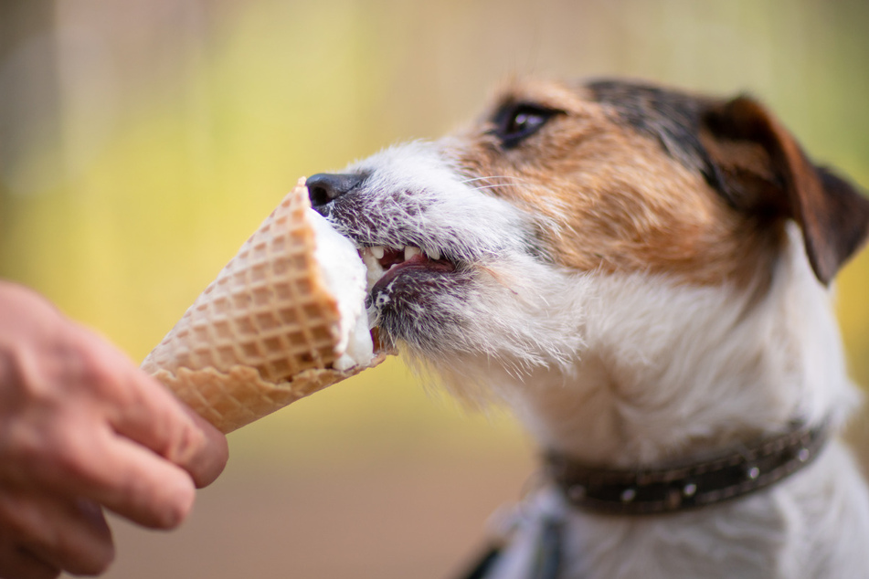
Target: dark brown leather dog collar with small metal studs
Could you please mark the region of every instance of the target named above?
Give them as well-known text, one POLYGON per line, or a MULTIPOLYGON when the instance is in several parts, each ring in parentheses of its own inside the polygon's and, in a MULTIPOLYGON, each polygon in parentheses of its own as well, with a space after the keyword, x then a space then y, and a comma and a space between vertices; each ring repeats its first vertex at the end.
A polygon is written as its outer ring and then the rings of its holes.
POLYGON ((737 499, 808 465, 826 440, 825 425, 787 432, 705 460, 665 468, 615 469, 551 452, 546 470, 567 501, 583 511, 643 515, 687 511, 737 499))

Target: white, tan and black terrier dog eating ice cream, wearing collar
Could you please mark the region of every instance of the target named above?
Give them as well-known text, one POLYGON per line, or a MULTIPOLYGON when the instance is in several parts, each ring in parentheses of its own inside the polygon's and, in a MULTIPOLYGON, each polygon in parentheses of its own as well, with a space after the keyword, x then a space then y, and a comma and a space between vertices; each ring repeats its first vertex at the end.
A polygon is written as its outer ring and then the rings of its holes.
POLYGON ((869 577, 829 291, 869 201, 757 100, 513 79, 308 187, 383 347, 541 448, 469 576, 869 577))

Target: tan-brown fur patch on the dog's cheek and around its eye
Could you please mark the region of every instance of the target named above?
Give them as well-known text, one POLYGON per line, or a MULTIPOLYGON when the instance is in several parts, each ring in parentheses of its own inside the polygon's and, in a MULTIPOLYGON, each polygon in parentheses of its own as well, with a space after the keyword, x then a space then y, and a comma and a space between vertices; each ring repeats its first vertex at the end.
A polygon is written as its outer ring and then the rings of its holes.
POLYGON ((700 285, 746 286, 771 270, 780 222, 728 205, 700 171, 620 121, 588 89, 514 81, 493 111, 505 102, 563 113, 508 150, 492 122, 480 121, 450 141, 450 155, 460 172, 490 176, 476 184, 543 217, 540 242, 557 264, 676 275, 700 285))

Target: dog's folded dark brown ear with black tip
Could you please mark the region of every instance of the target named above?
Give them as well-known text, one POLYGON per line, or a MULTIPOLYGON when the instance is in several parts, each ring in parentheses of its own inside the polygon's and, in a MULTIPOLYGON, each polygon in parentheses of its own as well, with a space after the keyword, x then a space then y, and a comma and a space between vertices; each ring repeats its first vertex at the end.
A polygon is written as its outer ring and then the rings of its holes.
POLYGON ((794 219, 811 267, 824 284, 869 236, 869 199, 811 163, 756 100, 710 103, 700 138, 711 161, 710 182, 737 209, 794 219))

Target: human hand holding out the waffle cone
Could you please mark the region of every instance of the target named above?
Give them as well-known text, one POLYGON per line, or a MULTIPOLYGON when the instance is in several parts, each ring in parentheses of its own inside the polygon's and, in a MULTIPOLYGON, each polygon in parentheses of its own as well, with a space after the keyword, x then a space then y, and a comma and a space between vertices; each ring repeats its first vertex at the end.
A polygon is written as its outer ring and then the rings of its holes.
POLYGON ((227 458, 226 437, 110 343, 0 281, 0 577, 100 574, 101 507, 175 528, 227 458))

